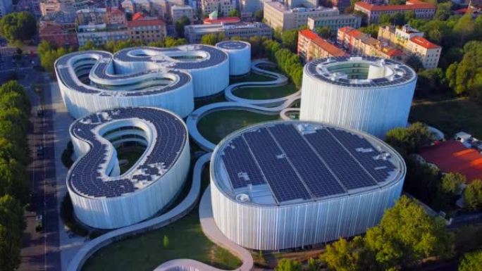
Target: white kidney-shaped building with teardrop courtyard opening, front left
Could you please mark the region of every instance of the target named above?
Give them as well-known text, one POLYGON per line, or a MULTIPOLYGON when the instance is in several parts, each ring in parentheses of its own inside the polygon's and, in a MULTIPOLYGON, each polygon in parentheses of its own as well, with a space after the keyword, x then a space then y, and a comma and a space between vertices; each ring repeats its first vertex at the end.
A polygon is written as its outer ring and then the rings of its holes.
POLYGON ((190 166, 187 128, 159 108, 118 108, 80 118, 70 125, 78 160, 67 176, 76 217, 101 229, 135 224, 167 206, 182 189, 190 166), (120 175, 116 147, 146 147, 120 175))

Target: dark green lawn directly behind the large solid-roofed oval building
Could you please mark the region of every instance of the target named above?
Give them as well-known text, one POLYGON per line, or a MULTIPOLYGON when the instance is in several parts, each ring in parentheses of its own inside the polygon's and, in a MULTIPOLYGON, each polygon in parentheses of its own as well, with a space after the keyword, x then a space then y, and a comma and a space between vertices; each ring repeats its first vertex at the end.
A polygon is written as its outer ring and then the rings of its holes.
POLYGON ((279 115, 264 115, 243 110, 223 110, 205 115, 197 125, 199 132, 217 144, 226 135, 242 127, 268 120, 278 120, 279 115))

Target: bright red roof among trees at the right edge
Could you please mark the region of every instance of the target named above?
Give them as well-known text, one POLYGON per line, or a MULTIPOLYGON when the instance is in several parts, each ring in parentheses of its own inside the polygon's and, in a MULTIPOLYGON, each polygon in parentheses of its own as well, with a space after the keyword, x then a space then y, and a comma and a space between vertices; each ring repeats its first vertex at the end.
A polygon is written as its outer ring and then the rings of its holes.
POLYGON ((444 172, 459 172, 470 183, 482 179, 482 155, 474 149, 467 149, 459 141, 440 142, 421 151, 420 155, 444 172))

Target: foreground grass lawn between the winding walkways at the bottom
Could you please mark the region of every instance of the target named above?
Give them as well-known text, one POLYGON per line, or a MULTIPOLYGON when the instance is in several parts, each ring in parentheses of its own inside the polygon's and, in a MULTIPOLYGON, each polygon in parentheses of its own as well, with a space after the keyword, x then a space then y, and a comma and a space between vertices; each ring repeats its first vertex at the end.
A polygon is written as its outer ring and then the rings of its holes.
MULTIPOLYGON (((209 183, 209 167, 203 172, 203 187, 209 183)), ((204 191, 204 189, 202 191, 204 191)), ((240 267, 241 261, 211 242, 203 234, 198 208, 171 225, 117 241, 94 253, 82 271, 152 271, 168 260, 188 258, 225 270, 240 267), (163 247, 167 236, 169 245, 163 247)))

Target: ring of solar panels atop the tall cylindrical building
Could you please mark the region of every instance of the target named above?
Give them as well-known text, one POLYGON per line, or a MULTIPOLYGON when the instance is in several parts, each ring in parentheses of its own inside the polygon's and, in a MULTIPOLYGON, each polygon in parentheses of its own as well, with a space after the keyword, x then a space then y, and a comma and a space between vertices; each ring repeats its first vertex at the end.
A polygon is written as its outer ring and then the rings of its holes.
POLYGON ((326 63, 326 61, 328 61, 328 58, 320 58, 315 61, 311 61, 307 63, 306 69, 309 75, 312 75, 318 78, 319 80, 322 80, 324 82, 329 82, 330 84, 338 84, 344 87, 385 87, 385 86, 393 86, 395 84, 401 84, 404 82, 409 82, 415 79, 414 71, 411 68, 409 68, 407 65, 404 65, 402 63, 398 63, 390 59, 378 58, 376 56, 362 56, 362 59, 363 61, 371 61, 373 63, 383 59, 383 61, 385 61, 385 65, 390 65, 390 68, 393 68, 397 72, 400 72, 400 74, 394 75, 393 80, 388 80, 387 78, 376 78, 376 79, 370 80, 369 82, 354 83, 352 80, 347 80, 344 78, 339 78, 338 80, 331 80, 330 74, 321 74, 319 73, 319 70, 316 69, 316 67, 320 64, 332 65, 333 63, 350 62, 350 56, 330 57, 329 63, 326 63))

